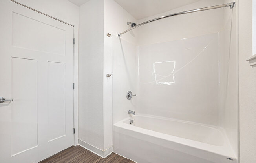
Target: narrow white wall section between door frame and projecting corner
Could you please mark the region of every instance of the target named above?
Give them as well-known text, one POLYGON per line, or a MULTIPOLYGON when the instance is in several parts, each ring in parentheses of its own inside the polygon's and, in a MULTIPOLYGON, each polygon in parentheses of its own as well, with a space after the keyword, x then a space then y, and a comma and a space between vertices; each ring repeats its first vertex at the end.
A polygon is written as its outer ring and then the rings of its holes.
POLYGON ((104 150, 103 30, 104 1, 90 0, 80 6, 79 142, 100 150, 104 150))

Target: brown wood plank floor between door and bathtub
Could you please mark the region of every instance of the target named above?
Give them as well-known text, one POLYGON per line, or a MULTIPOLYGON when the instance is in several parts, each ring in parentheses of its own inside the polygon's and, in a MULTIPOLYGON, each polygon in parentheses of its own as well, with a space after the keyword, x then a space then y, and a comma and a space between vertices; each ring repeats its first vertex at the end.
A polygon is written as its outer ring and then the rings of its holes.
POLYGON ((39 163, 135 163, 130 159, 112 153, 106 158, 77 145, 69 147, 39 163))

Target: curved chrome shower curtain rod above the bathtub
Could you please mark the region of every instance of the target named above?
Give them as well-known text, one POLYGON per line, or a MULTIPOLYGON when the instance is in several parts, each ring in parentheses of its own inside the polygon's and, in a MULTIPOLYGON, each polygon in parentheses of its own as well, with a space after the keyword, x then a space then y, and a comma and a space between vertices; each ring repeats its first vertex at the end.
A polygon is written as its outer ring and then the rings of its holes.
POLYGON ((118 37, 120 37, 122 34, 128 32, 128 31, 131 31, 134 28, 137 28, 137 27, 139 27, 141 25, 144 25, 144 24, 148 24, 150 22, 154 22, 155 20, 160 20, 160 19, 163 19, 163 18, 168 18, 168 17, 171 17, 171 16, 176 16, 176 15, 181 15, 181 14, 194 13, 194 12, 198 12, 198 11, 218 9, 218 8, 222 8, 222 7, 229 7, 230 6, 230 9, 232 9, 234 7, 235 3, 236 2, 231 2, 231 3, 228 3, 228 4, 215 5, 215 6, 211 6, 211 7, 205 7, 205 8, 200 8, 200 9, 188 10, 188 11, 183 11, 183 12, 179 12, 179 13, 169 14, 169 15, 166 15, 166 16, 161 16, 159 18, 154 18, 154 19, 148 20, 146 22, 143 22, 141 24, 135 25, 134 27, 131 27, 131 28, 127 29, 126 31, 123 31, 122 33, 119 33, 118 37))

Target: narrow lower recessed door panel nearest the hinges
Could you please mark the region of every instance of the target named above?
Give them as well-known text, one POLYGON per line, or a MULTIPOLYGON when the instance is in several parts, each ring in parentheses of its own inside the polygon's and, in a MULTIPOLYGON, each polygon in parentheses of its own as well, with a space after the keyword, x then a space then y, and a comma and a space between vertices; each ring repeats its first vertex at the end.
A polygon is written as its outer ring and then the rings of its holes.
POLYGON ((48 141, 66 136, 65 63, 48 62, 48 141))

